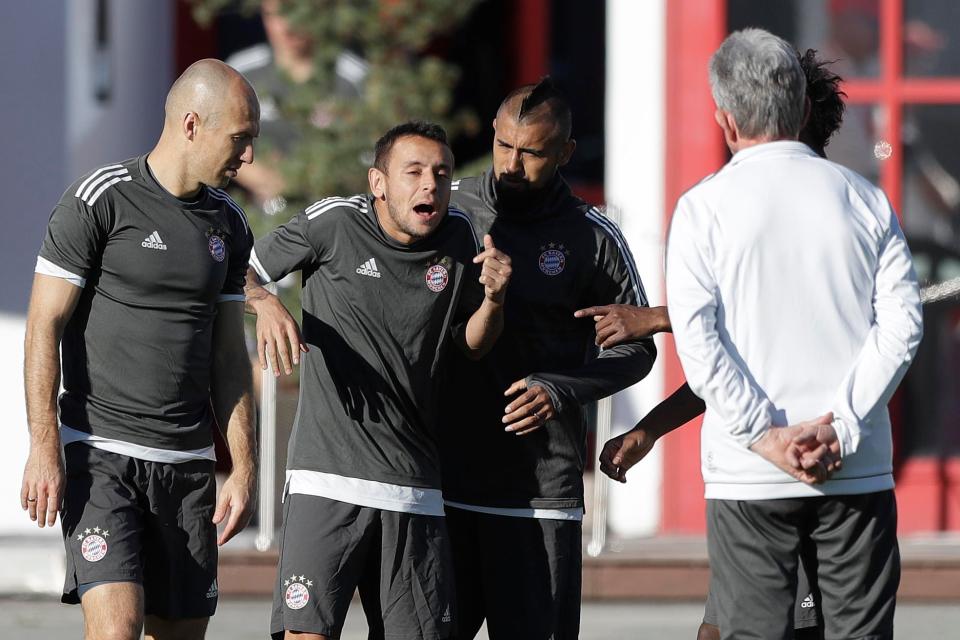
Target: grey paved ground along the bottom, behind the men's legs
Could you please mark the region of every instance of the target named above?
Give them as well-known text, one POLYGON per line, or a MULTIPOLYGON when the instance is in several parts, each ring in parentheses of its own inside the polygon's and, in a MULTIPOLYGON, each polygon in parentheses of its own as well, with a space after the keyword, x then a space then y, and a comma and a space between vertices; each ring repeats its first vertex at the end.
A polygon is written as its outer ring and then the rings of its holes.
MULTIPOLYGON (((703 606, 700 603, 587 603, 583 609, 583 640, 694 640, 703 606)), ((207 634, 209 640, 263 640, 267 637, 270 604, 266 600, 225 600, 207 634)), ((0 600, 0 638, 80 638, 80 610, 50 599, 0 600)), ((960 627, 956 605, 901 605, 897 610, 898 640, 955 638, 960 627)), ((486 640, 486 634, 481 635, 486 640)), ((342 640, 366 638, 366 623, 358 606, 350 610, 342 640)))

